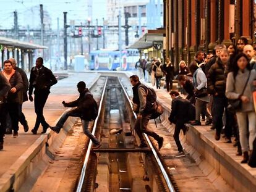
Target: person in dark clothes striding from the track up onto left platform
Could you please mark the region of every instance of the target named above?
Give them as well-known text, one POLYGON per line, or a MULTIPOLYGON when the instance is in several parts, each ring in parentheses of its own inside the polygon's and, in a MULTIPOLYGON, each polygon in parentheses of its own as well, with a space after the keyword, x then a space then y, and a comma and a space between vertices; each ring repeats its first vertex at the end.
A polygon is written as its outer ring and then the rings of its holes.
POLYGON ((92 135, 92 133, 88 129, 89 122, 91 120, 95 120, 98 115, 98 105, 93 99, 92 93, 86 88, 86 84, 83 81, 77 83, 77 90, 79 91, 80 95, 79 98, 72 102, 65 102, 62 101, 64 107, 76 107, 68 112, 65 112, 61 119, 59 119, 58 123, 55 127, 51 127, 56 133, 59 133, 61 128, 63 127, 64 123, 66 122, 68 117, 80 117, 82 126, 83 126, 83 133, 92 140, 93 144, 95 144, 96 148, 101 147, 100 141, 92 135))

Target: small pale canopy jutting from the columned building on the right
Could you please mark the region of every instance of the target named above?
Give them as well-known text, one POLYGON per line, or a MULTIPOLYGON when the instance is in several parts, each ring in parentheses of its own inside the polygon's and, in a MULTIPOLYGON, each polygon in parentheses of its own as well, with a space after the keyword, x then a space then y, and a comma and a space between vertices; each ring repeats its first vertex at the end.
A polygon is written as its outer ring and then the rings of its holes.
POLYGON ((147 49, 153 47, 153 42, 163 42, 163 33, 145 33, 129 49, 147 49))

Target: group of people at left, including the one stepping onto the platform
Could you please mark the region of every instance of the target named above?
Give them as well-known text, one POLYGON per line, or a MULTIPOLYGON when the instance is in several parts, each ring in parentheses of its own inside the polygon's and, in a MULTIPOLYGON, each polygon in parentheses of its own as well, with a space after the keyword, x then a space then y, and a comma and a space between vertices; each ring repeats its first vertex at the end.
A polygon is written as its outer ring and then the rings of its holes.
POLYGON ((14 138, 19 136, 19 122, 23 125, 24 131, 28 131, 28 122, 22 112, 22 104, 28 99, 34 102, 35 107, 36 120, 31 130, 34 135, 37 134, 40 125, 43 128, 41 134, 46 133, 48 128, 59 133, 69 116, 80 117, 83 133, 93 141, 96 148, 100 148, 100 141, 88 130, 90 120, 95 120, 98 115, 98 105, 83 81, 77 84, 79 99, 73 102, 62 102, 64 107, 77 106, 77 108, 62 115, 55 127, 49 126, 46 122, 43 108, 51 86, 56 83, 53 72, 43 65, 42 57, 36 59, 35 67, 30 70, 29 81, 24 70, 17 67, 14 58, 4 61, 4 70, 0 72, 0 150, 4 148, 5 134, 12 134, 14 138), (9 125, 8 122, 10 122, 9 125))

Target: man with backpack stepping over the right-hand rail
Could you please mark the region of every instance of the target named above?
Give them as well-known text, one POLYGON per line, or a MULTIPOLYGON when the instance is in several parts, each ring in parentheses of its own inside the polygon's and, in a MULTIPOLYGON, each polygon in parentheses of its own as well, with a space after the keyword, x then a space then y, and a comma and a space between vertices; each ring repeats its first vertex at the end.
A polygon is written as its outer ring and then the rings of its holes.
POLYGON ((130 83, 133 88, 134 98, 134 112, 137 114, 137 119, 134 125, 134 129, 140 138, 139 148, 147 147, 143 134, 152 136, 158 142, 158 149, 163 146, 163 137, 157 135, 155 132, 148 130, 148 121, 153 117, 156 103, 156 93, 153 89, 148 88, 139 81, 137 75, 130 76, 130 83))

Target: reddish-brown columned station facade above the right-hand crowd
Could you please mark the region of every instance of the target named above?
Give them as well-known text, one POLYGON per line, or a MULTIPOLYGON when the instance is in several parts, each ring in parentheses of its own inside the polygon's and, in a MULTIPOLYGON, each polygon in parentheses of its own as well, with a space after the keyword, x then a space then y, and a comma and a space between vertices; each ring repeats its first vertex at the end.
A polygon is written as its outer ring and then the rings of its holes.
POLYGON ((244 36, 255 44, 254 0, 163 0, 164 56, 174 64, 190 63, 195 52, 244 36))

